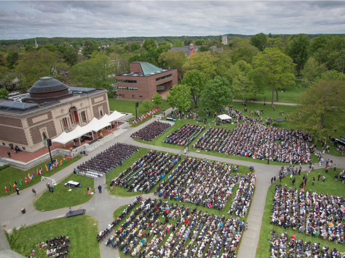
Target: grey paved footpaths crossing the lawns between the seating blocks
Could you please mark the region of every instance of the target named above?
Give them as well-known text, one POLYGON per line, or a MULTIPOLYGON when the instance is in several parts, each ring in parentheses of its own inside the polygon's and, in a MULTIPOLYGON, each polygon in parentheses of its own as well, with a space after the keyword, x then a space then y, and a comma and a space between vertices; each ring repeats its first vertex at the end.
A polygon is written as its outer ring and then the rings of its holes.
MULTIPOLYGON (((171 109, 167 110, 167 114, 171 112, 171 109)), ((154 118, 153 118, 154 119, 154 118)), ((130 135, 141 129, 148 123, 152 122, 152 119, 148 120, 147 122, 141 124, 138 127, 129 127, 126 132, 124 132, 121 137, 115 138, 115 141, 111 141, 102 145, 101 148, 97 148, 91 152, 89 152, 88 156, 85 156, 75 162, 73 166, 69 166, 57 173, 55 173, 52 177, 56 181, 62 180, 64 177, 68 176, 72 171, 73 168, 78 166, 79 164, 89 160, 90 158, 96 156, 99 152, 103 151, 104 149, 108 148, 109 146, 113 145, 115 142, 120 143, 128 143, 138 145, 139 147, 144 147, 148 149, 156 149, 171 153, 181 153, 180 150, 173 149, 173 148, 166 148, 160 147, 145 143, 138 143, 134 141, 130 135)), ((197 152, 189 152, 187 154, 191 157, 197 158, 207 158, 210 160, 226 162, 226 163, 233 163, 239 164, 244 166, 251 166, 253 162, 251 161, 242 161, 242 160, 234 160, 228 159, 223 157, 216 157, 211 155, 200 154, 197 152)), ((333 159, 334 164, 337 164, 338 168, 345 168, 345 158, 342 157, 335 157, 325 154, 325 158, 333 159)), ((271 177, 277 176, 277 173, 280 169, 280 166, 275 165, 265 165, 254 163, 255 166, 255 173, 257 175, 257 180, 255 182, 255 193, 253 196, 253 200, 250 206, 250 211, 248 215, 248 230, 243 233, 242 236, 242 243, 239 249, 238 258, 254 258, 256 252, 256 246, 259 240, 259 233, 261 228, 261 221, 265 207, 265 200, 269 186, 271 185, 271 177)), ((308 165, 302 166, 303 171, 308 169, 308 165)), ((315 169, 318 169, 315 166, 315 169)), ((97 188, 99 184, 105 183, 105 177, 101 178, 100 180, 94 180, 94 187, 97 188)), ((46 190, 46 182, 39 182, 37 183, 34 188, 37 194, 46 190)), ((32 225, 38 222, 56 219, 60 217, 64 217, 68 212, 68 208, 62 208, 53 211, 46 211, 40 212, 34 208, 33 201, 35 199, 33 193, 31 192, 32 188, 28 188, 24 191, 21 191, 21 195, 11 195, 8 197, 0 198, 0 218, 1 218, 1 226, 3 229, 6 229, 10 232, 13 227, 20 227, 21 225, 32 225), (23 215, 20 212, 20 208, 25 207, 27 213, 23 215)), ((97 189, 96 189, 97 190, 97 189)), ((89 214, 95 217, 98 220, 99 230, 103 230, 107 227, 109 223, 112 222, 113 219, 113 212, 118 207, 131 203, 135 197, 116 197, 109 195, 108 192, 103 189, 102 194, 98 194, 98 191, 95 192, 94 197, 87 201, 86 203, 77 205, 72 207, 73 209, 86 209, 86 214, 89 214)), ((75 190, 76 191, 76 190, 75 190)), ((139 195, 139 193, 138 193, 139 195)), ((153 194, 143 195, 143 198, 153 197, 153 194)), ((96 236, 95 236, 96 237, 96 236)), ((102 258, 110 258, 110 257, 119 257, 118 250, 112 249, 110 247, 105 246, 105 241, 101 242, 101 257, 102 258)))

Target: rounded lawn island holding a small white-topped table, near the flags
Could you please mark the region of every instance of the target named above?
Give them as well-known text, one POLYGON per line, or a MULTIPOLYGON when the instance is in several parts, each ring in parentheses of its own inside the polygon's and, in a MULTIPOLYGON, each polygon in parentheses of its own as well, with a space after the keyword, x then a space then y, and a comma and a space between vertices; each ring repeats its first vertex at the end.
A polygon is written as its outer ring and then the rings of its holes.
MULTIPOLYGON (((53 186, 53 194, 47 189, 38 195, 34 201, 35 209, 39 211, 48 211, 82 204, 93 197, 93 195, 87 195, 88 187, 93 189, 93 178, 72 173, 58 182, 57 185, 53 186), (69 187, 65 187, 64 185, 69 180, 79 182, 81 188, 71 188, 72 191, 69 192, 69 187)), ((91 192, 95 191, 91 190, 91 192)))

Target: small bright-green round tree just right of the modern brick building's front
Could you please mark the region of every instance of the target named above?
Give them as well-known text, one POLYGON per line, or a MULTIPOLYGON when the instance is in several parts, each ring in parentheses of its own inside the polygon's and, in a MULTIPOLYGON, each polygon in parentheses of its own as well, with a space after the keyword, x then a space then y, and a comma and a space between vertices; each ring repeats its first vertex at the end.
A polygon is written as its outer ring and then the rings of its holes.
POLYGON ((167 95, 168 104, 172 108, 185 111, 190 106, 190 89, 184 85, 174 85, 167 95))

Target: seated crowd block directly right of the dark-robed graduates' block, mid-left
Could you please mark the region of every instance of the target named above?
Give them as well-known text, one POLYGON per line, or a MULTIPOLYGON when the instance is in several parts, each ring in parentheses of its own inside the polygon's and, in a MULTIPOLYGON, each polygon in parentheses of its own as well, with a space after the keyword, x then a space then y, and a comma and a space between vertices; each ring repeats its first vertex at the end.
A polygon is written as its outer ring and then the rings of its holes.
POLYGON ((177 154, 160 151, 148 151, 132 166, 120 173, 112 183, 115 186, 128 188, 129 192, 148 193, 179 161, 177 154))

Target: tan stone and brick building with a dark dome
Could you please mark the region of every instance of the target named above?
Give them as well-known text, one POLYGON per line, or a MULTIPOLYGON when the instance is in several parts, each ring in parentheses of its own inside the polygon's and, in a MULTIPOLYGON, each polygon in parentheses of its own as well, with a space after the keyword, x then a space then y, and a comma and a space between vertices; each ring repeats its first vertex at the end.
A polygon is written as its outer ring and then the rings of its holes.
POLYGON ((0 100, 0 144, 34 152, 94 117, 109 114, 106 89, 69 87, 52 77, 41 77, 23 102, 0 100))

